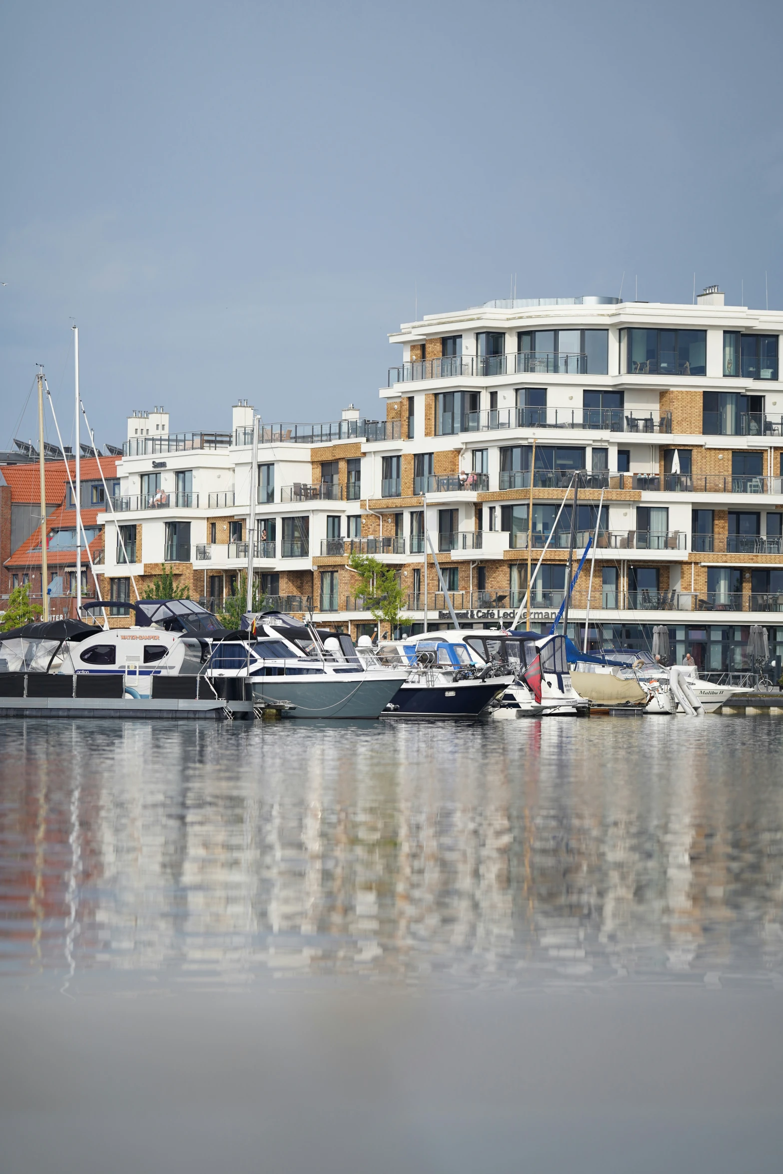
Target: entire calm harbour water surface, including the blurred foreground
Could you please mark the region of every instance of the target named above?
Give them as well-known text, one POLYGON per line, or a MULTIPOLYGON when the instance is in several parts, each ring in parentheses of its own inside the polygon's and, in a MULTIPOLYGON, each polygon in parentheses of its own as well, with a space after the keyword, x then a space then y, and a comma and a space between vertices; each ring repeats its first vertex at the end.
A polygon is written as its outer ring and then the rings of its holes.
POLYGON ((0 723, 0 1170, 777 1170, 782 749, 0 723))

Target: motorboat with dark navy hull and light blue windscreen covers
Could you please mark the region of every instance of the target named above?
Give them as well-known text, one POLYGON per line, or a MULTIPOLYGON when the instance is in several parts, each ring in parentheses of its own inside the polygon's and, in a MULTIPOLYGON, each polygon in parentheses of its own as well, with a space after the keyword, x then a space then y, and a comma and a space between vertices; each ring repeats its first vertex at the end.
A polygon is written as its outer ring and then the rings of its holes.
MULTIPOLYGON (((359 637, 357 652, 367 664, 376 657, 367 636, 359 637)), ((406 672, 384 717, 474 720, 488 713, 514 680, 464 642, 443 640, 441 633, 383 643, 377 661, 406 672)))

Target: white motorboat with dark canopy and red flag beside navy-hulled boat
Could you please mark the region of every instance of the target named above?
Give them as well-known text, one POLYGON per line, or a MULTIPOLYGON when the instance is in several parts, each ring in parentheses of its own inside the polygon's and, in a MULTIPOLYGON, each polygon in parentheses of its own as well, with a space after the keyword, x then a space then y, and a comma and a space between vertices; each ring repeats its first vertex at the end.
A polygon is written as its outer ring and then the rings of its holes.
MULTIPOLYGON (((574 689, 566 657, 566 637, 539 632, 450 628, 439 640, 465 643, 482 664, 508 674, 495 716, 508 709, 529 717, 583 717, 590 702, 574 689)), ((417 639, 423 639, 421 636, 417 639)))

